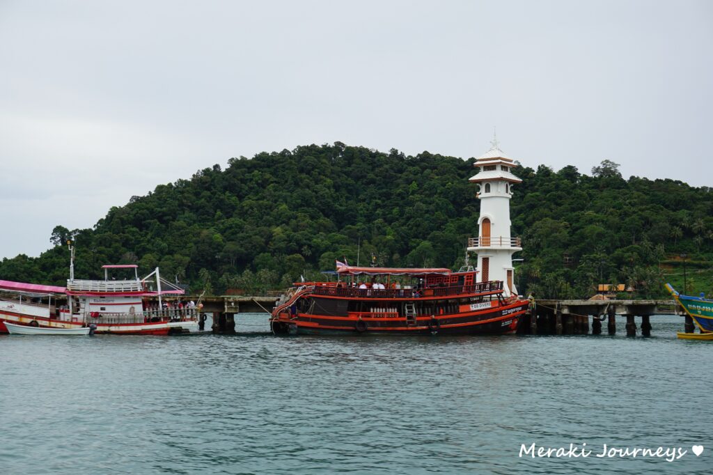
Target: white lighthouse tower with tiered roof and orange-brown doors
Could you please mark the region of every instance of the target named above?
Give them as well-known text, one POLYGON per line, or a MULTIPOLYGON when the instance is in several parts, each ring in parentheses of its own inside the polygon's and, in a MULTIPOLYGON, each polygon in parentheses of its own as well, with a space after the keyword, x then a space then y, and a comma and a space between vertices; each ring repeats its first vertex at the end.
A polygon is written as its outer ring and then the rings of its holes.
POLYGON ((476 197, 481 200, 478 237, 468 240, 468 251, 478 254, 478 281, 503 281, 503 295, 518 295, 515 288, 513 254, 520 250, 520 238, 510 235, 510 198, 513 185, 523 180, 511 173, 513 160, 498 147, 493 136, 490 150, 478 157, 477 175, 471 177, 480 187, 476 197))

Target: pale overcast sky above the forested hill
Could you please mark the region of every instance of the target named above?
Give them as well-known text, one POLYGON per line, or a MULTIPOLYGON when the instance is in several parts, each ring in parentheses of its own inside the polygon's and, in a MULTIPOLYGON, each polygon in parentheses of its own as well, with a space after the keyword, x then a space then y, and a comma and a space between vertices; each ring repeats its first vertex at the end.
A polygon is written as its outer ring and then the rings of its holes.
POLYGON ((712 51, 712 1, 0 0, 0 257, 312 143, 712 186, 712 51))

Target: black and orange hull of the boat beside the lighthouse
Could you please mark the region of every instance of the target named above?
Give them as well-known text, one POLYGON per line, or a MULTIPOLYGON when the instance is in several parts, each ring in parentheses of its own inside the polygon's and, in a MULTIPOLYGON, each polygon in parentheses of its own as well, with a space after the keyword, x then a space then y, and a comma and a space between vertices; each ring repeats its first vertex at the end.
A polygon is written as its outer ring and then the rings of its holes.
POLYGON ((527 309, 528 302, 518 300, 485 312, 419 316, 411 323, 404 317, 355 318, 301 313, 294 317, 274 317, 272 330, 278 334, 513 334, 527 309))

